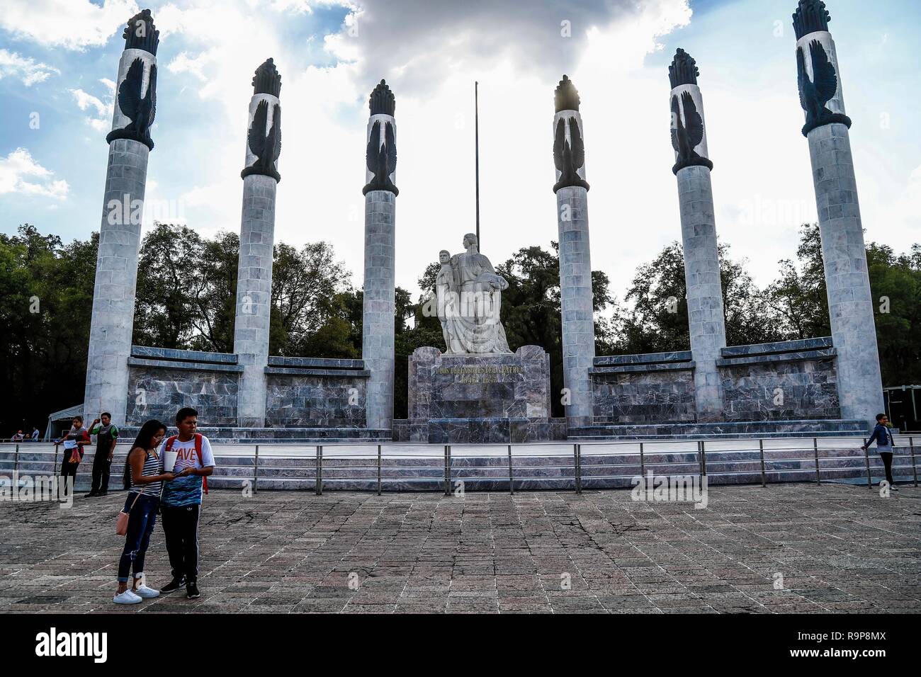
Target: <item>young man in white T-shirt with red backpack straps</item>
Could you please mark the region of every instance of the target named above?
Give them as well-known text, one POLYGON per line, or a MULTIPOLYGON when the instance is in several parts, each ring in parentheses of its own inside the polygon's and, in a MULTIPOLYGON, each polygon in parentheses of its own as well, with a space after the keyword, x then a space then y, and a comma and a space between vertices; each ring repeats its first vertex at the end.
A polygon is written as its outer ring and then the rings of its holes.
POLYGON ((200 597, 198 591, 198 517, 202 506, 202 494, 208 492, 207 476, 215 472, 215 457, 211 443, 198 429, 198 412, 192 407, 183 407, 176 414, 179 435, 163 443, 161 455, 169 465, 175 454, 175 465, 167 467, 167 473, 175 473, 175 479, 163 486, 160 498, 160 512, 163 535, 169 553, 172 580, 160 589, 160 594, 169 594, 185 586, 190 600, 200 597), (171 453, 170 453, 171 452, 171 453))

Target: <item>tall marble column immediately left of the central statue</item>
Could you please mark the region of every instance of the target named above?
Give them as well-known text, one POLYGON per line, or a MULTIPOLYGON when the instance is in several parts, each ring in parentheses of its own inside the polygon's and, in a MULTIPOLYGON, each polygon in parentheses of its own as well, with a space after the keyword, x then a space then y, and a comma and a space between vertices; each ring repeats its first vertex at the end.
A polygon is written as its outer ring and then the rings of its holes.
POLYGON ((361 356, 367 379, 367 426, 393 426, 396 313, 396 100, 384 80, 371 92, 367 121, 365 194, 365 286, 361 356))

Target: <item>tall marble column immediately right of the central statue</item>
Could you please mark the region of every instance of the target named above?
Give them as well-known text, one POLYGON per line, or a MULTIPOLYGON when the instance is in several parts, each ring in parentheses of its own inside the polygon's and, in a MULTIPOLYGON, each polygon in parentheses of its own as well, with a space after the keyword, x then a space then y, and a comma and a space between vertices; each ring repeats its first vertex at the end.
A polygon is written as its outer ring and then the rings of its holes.
POLYGON ((579 97, 563 76, 554 92, 556 223, 560 245, 563 387, 568 427, 592 423, 589 369, 595 359, 595 320, 589 247, 589 183, 579 97))

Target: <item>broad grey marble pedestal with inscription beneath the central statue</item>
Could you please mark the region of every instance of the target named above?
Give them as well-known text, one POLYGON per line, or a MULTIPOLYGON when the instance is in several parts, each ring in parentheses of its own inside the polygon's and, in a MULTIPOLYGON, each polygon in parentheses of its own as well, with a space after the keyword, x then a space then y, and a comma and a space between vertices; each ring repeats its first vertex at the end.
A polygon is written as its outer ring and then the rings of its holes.
POLYGON ((514 355, 409 358, 409 438, 432 444, 548 440, 550 356, 536 345, 514 355))

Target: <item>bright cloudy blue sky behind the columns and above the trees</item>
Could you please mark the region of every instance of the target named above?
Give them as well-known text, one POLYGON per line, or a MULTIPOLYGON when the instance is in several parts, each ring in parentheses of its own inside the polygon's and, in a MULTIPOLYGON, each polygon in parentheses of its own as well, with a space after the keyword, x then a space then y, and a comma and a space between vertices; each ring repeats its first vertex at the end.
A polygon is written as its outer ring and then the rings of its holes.
MULTIPOLYGON (((239 228, 252 72, 282 74, 275 237, 326 239, 361 285, 367 96, 396 100, 397 284, 473 228, 473 81, 480 81, 481 229, 494 263, 556 239, 554 88, 582 99, 592 265, 623 296, 680 239, 670 168, 670 64, 697 60, 717 232, 766 284, 815 220, 796 84, 796 0, 171 0, 160 30, 157 147, 146 221, 239 228)), ((868 239, 921 241, 916 0, 828 0, 868 239)), ((0 7, 0 228, 64 239, 99 228, 113 82, 130 0, 0 7), (37 127, 37 128, 36 128, 37 127)))

